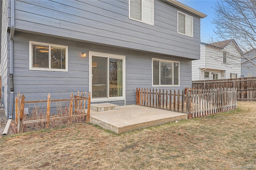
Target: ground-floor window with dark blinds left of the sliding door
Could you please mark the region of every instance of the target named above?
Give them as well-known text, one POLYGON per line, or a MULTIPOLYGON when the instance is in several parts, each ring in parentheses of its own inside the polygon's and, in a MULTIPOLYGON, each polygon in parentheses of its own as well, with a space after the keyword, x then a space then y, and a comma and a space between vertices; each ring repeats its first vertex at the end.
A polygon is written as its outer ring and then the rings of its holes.
POLYGON ((68 71, 68 47, 29 42, 30 70, 68 71))

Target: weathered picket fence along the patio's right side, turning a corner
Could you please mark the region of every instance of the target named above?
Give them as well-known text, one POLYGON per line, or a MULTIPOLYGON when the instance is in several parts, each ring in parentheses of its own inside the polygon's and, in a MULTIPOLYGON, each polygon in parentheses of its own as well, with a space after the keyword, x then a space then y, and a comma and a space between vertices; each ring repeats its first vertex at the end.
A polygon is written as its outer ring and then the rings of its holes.
POLYGON ((180 90, 136 89, 136 105, 202 117, 236 109, 236 89, 180 90))

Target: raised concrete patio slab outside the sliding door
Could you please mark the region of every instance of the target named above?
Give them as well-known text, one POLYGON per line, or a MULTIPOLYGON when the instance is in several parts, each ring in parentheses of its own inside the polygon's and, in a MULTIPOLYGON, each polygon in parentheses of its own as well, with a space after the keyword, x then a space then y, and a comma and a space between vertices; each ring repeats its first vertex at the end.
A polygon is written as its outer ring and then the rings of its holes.
POLYGON ((90 111, 90 123, 117 134, 187 118, 184 113, 138 105, 119 106, 118 110, 113 111, 90 111))

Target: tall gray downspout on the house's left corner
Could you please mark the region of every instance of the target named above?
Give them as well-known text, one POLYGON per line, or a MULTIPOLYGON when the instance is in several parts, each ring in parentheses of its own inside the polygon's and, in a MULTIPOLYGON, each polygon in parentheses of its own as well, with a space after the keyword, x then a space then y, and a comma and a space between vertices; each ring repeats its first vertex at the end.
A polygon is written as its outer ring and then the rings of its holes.
POLYGON ((14 99, 14 83, 13 83, 13 36, 14 36, 14 0, 11 0, 11 30, 10 30, 10 109, 9 109, 9 119, 12 119, 13 112, 13 99, 14 99))

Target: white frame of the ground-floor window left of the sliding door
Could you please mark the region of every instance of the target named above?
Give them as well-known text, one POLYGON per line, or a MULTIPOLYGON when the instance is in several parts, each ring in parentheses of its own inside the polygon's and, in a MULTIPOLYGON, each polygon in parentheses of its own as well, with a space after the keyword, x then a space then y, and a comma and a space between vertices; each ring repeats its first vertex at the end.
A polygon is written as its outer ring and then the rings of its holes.
MULTIPOLYGON (((49 48, 49 58, 50 58, 50 53, 51 49, 49 48)), ((57 44, 52 44, 52 43, 43 43, 43 42, 34 42, 34 41, 29 41, 29 69, 30 70, 39 70, 39 71, 64 71, 68 72, 68 46, 65 45, 57 45, 57 44), (65 68, 66 69, 51 69, 50 68, 50 59, 49 59, 49 68, 39 68, 39 67, 33 67, 33 47, 32 44, 34 45, 48 45, 48 46, 54 46, 54 47, 62 47, 66 49, 66 59, 65 59, 65 68)))

